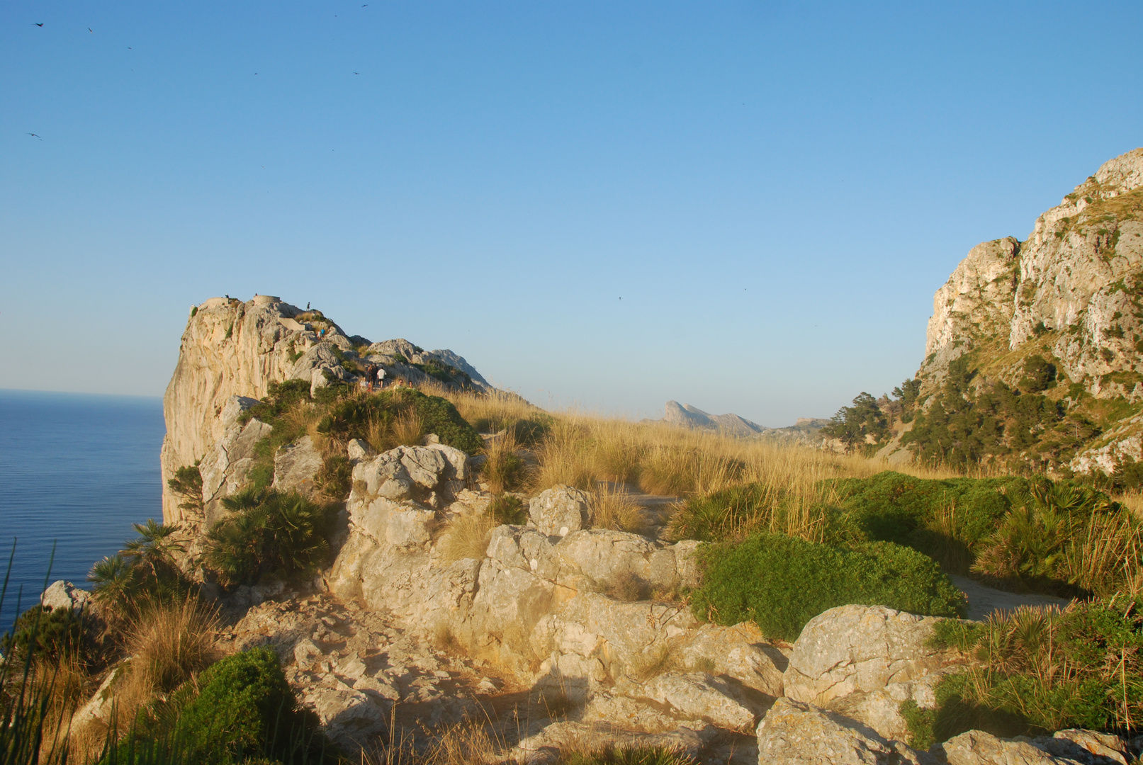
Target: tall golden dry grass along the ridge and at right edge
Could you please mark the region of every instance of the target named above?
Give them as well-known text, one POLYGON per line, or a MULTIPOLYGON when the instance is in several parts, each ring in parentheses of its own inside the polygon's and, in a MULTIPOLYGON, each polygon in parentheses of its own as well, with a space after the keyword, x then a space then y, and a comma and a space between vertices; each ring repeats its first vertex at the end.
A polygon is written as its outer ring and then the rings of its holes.
MULTIPOLYGON (((728 514, 724 521, 735 529, 724 529, 724 537, 772 531, 821 541, 823 507, 840 500, 825 478, 865 478, 887 469, 918 478, 1004 475, 994 464, 970 470, 889 466, 858 454, 735 438, 660 422, 633 422, 576 409, 547 412, 520 396, 499 392, 485 395, 439 387, 426 392, 448 398, 470 422, 490 424, 509 433, 515 422, 543 422, 546 429, 531 446, 535 465, 525 489, 537 493, 568 484, 591 491, 604 508, 601 525, 617 529, 636 524, 628 498, 618 489, 624 484, 648 494, 680 498, 753 484, 757 493, 751 498, 750 513, 728 514)), ((1068 578, 1097 594, 1124 589, 1136 594, 1143 590, 1143 493, 1116 499, 1127 512, 1093 518, 1082 538, 1072 540, 1065 562, 1068 578)), ((719 520, 710 522, 718 524, 719 520)), ((960 539, 960 523, 957 508, 950 504, 934 518, 933 526, 951 539, 960 539)), ((953 563, 958 569, 967 566, 967 559, 953 563)))

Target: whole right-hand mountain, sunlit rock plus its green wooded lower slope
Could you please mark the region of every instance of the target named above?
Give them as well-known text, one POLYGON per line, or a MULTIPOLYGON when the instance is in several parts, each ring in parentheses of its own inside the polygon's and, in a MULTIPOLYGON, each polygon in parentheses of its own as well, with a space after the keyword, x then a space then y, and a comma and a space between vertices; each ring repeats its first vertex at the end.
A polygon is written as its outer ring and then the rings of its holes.
MULTIPOLYGON (((953 400, 996 394, 977 416, 1007 432, 994 443, 983 438, 974 453, 1111 473, 1143 457, 1143 422, 1133 419, 1143 404, 1141 360, 1143 148, 1136 148, 1041 215, 1026 240, 984 242, 957 266, 933 299, 918 411, 941 403, 944 417, 962 409, 953 400), (1033 367, 1047 370, 1042 380, 1030 381, 1033 367), (1021 394, 1044 401, 1012 404, 1021 394), (1022 418, 1017 409, 1037 411, 1022 418), (1040 449, 1045 440, 1050 449, 1040 449)), ((951 444, 956 429, 940 437, 951 444)))

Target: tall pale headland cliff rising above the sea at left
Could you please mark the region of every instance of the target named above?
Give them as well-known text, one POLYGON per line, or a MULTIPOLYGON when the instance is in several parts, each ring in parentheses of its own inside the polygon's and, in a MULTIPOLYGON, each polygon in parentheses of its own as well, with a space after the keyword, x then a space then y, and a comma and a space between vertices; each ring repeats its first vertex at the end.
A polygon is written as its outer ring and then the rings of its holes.
POLYGON ((181 467, 201 464, 208 513, 211 501, 242 485, 254 444, 269 426, 242 421, 240 414, 265 397, 271 385, 304 380, 314 390, 334 380, 357 381, 369 367, 385 370, 389 379, 434 378, 446 386, 489 387, 451 351, 425 352, 401 339, 370 344, 346 336, 321 312, 275 297, 261 295, 245 303, 210 298, 192 307, 163 395, 163 521, 187 520, 182 498, 167 486, 181 467))

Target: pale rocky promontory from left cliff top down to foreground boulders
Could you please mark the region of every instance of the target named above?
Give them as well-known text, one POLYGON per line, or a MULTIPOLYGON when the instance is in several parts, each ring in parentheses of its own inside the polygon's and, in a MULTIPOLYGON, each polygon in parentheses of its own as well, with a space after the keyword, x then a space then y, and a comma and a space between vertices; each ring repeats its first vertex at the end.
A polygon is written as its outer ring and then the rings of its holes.
MULTIPOLYGON (((165 398, 165 521, 185 542, 182 565, 227 614, 227 650, 273 649, 342 750, 375 750, 393 725, 431 738, 483 716, 499 726, 497 757, 519 763, 605 744, 665 747, 704 763, 1130 754, 1126 741, 1087 731, 1021 740, 970 731, 929 748, 913 718, 933 714, 942 678, 976 661, 937 639, 945 619, 841 605, 788 643, 752 621, 694 613, 687 594, 702 581, 703 542, 662 526, 602 526, 598 494, 570 485, 490 491, 481 466, 507 428, 478 441, 463 428, 426 433, 384 449, 337 437, 345 418, 389 417, 369 409, 370 396, 423 400, 403 393, 418 384, 490 392, 451 352, 347 336, 320 312, 267 296, 214 298, 191 311, 165 398), (378 379, 382 394, 371 389, 378 379), (323 390, 336 393, 323 418, 304 419, 323 390), (275 428, 288 422, 298 435, 282 440, 275 428), (219 524, 257 481, 259 491, 336 510, 321 542, 328 563, 311 578, 197 569, 205 540, 224 539, 219 524)), ((86 714, 105 715, 99 703, 86 714)))

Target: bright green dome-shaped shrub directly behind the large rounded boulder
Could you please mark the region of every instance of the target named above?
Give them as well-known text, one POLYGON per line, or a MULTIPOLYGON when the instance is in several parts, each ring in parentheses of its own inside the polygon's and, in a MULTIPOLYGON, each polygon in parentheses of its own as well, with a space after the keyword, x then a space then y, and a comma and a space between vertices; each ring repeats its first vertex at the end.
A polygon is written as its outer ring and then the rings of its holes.
POLYGON ((793 641, 806 622, 849 603, 954 617, 964 595, 930 558, 892 542, 844 549, 764 534, 702 548, 700 618, 722 625, 752 620, 772 637, 793 641))

